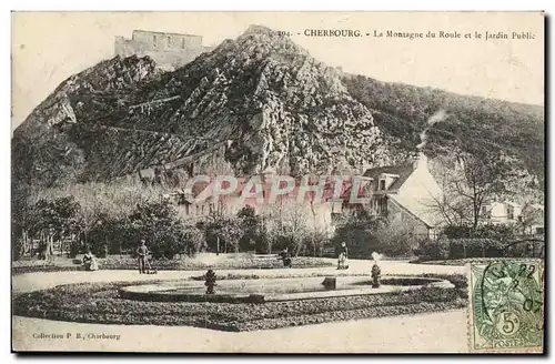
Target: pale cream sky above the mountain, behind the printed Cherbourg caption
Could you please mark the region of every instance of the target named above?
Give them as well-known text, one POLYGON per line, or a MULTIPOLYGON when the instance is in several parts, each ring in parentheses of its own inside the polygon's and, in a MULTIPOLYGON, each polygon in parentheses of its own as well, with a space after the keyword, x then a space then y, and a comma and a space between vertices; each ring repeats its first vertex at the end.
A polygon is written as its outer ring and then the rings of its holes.
POLYGON ((537 12, 13 12, 12 130, 63 80, 112 58, 115 36, 135 29, 193 33, 204 46, 235 39, 250 24, 290 31, 297 44, 344 72, 514 102, 544 103, 544 22, 537 12), (306 29, 369 37, 316 38, 306 29), (460 32, 460 39, 376 33, 460 32), (475 32, 534 39, 491 39, 475 32), (296 33, 301 33, 297 36, 296 33), (463 34, 473 38, 465 39, 463 34))

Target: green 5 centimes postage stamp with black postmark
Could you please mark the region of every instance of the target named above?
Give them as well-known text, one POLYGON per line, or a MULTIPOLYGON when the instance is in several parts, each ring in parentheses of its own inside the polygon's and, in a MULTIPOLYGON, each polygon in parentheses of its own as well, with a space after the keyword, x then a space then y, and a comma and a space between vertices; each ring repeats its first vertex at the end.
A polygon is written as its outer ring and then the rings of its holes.
POLYGON ((542 353, 542 261, 471 263, 470 351, 542 353))

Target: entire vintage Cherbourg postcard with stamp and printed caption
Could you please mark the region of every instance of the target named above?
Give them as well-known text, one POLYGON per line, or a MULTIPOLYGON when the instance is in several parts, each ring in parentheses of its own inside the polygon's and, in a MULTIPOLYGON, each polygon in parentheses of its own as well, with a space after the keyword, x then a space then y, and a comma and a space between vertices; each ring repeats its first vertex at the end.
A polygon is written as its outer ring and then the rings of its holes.
POLYGON ((13 352, 544 353, 542 11, 11 17, 13 352))

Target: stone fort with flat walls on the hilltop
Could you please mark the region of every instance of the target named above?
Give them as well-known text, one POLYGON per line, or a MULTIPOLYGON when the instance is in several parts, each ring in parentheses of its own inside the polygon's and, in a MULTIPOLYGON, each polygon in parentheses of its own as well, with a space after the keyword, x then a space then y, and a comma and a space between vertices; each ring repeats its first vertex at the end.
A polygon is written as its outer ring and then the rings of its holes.
POLYGON ((164 70, 174 70, 211 50, 213 47, 202 46, 201 36, 184 33, 133 30, 131 39, 115 37, 114 41, 117 55, 148 55, 154 60, 157 67, 164 70))

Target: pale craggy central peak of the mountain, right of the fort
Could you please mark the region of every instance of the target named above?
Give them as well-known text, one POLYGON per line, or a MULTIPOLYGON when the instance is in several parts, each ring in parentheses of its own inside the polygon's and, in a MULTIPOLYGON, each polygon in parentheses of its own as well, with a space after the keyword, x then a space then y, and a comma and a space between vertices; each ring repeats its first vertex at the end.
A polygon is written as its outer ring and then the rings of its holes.
POLYGON ((118 125, 184 135, 189 153, 230 141, 225 160, 239 174, 324 172, 386 159, 372 114, 337 71, 261 27, 167 74, 137 102, 144 110, 118 125))

